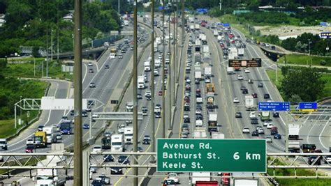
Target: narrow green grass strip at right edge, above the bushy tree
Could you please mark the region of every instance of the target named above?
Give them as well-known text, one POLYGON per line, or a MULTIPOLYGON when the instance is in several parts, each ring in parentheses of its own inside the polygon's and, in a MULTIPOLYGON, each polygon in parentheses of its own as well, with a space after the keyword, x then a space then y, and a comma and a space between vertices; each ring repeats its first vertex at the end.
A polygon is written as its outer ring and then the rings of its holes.
POLYGON ((288 54, 286 56, 282 56, 279 59, 278 63, 286 63, 288 64, 297 64, 297 65, 318 65, 318 66, 331 66, 331 58, 330 57, 322 57, 322 56, 307 56, 307 55, 298 55, 298 54, 288 54), (321 65, 321 61, 325 61, 325 65, 321 65))

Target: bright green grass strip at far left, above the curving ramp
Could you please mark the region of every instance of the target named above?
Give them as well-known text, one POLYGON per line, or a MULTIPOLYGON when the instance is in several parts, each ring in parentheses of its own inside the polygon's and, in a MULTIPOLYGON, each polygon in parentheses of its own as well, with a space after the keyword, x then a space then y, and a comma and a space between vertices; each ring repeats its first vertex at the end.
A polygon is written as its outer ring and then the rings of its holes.
MULTIPOLYGON (((40 78, 46 76, 46 67, 47 65, 44 58, 36 58, 36 62, 34 58, 8 59, 7 69, 6 72, 4 72, 4 75, 6 77, 40 78)), ((69 72, 61 72, 61 63, 57 61, 49 61, 48 77, 72 79, 73 75, 70 75, 69 72)))

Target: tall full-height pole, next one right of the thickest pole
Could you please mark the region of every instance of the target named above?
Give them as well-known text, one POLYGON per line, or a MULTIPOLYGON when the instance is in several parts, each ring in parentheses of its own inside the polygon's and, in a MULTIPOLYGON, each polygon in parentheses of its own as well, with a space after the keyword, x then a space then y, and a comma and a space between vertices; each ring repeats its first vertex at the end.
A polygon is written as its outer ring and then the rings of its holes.
MULTIPOLYGON (((138 43, 137 43, 137 0, 133 1, 133 152, 138 150, 138 102, 137 102, 137 64, 138 64, 138 43)), ((154 82, 153 82, 154 83, 154 82)), ((137 155, 134 155, 133 164, 138 164, 137 155)), ((138 167, 133 167, 133 175, 138 176, 138 167)), ((138 177, 133 178, 133 185, 138 186, 138 177)))

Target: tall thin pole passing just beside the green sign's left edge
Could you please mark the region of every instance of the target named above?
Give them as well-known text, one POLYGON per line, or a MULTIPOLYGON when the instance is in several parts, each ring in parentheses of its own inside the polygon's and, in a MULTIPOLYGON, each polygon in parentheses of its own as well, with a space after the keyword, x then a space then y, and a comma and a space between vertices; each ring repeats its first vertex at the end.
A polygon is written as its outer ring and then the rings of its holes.
MULTIPOLYGON (((152 79, 151 79, 151 93, 152 93, 152 102, 151 102, 151 104, 152 104, 152 109, 154 109, 154 102, 155 102, 155 90, 154 90, 154 68, 155 68, 155 65, 154 65, 154 61, 155 61, 155 59, 154 59, 154 0, 152 0, 152 10, 151 10, 151 13, 152 13, 152 73, 151 73, 151 75, 152 75, 152 79)), ((156 43, 156 45, 157 45, 157 43, 156 43)), ((154 116, 154 111, 151 111, 151 120, 152 120, 152 132, 151 132, 151 138, 152 138, 152 141, 151 141, 151 146, 152 146, 152 152, 155 152, 155 134, 154 134, 154 132, 155 132, 155 116, 154 116)), ((154 156, 152 156, 152 162, 155 162, 155 158, 154 158, 154 156)))

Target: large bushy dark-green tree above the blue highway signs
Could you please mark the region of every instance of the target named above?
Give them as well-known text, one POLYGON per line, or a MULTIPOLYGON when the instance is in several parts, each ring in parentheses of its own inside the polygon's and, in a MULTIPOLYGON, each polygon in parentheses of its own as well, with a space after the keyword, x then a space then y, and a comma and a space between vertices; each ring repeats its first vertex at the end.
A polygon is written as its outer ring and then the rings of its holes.
POLYGON ((297 95, 302 101, 316 101, 323 96, 326 81, 316 68, 281 68, 281 91, 286 100, 297 95))

